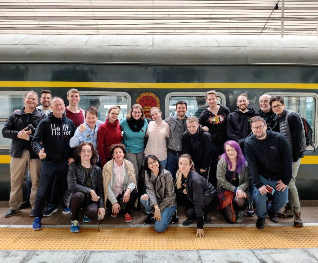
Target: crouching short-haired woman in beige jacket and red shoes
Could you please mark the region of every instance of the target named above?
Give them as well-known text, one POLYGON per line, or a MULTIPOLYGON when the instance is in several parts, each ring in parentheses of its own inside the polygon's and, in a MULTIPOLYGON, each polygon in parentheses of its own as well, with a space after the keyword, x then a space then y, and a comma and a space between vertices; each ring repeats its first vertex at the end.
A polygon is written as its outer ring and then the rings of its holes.
POLYGON ((134 165, 124 159, 125 146, 121 143, 110 147, 113 159, 103 168, 103 184, 105 202, 112 217, 117 217, 121 211, 121 200, 126 204, 123 214, 126 222, 131 222, 131 209, 137 206, 137 182, 134 165))

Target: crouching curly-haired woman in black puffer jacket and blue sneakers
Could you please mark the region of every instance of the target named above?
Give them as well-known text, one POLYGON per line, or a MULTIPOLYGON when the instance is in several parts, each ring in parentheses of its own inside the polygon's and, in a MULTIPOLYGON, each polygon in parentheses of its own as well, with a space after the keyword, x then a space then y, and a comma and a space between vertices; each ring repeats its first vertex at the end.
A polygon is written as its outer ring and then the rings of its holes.
POLYGON ((84 209, 83 222, 101 215, 104 218, 103 178, 95 165, 97 151, 91 142, 83 142, 75 149, 75 161, 68 167, 67 190, 63 201, 72 210, 71 232, 79 232, 79 211, 84 209))

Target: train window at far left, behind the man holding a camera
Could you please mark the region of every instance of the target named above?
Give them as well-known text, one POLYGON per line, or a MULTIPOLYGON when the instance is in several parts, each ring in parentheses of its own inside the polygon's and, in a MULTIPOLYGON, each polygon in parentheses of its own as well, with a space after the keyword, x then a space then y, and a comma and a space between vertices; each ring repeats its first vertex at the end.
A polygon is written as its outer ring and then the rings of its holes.
MULTIPOLYGON (((7 121, 10 114, 24 107, 23 97, 25 91, 1 91, 0 92, 0 131, 2 132, 3 126, 7 121), (9 95, 9 93, 11 95, 9 95), (14 93, 14 94, 12 94, 14 93)), ((0 147, 3 149, 11 145, 11 139, 3 138, 2 133, 0 136, 0 147)))

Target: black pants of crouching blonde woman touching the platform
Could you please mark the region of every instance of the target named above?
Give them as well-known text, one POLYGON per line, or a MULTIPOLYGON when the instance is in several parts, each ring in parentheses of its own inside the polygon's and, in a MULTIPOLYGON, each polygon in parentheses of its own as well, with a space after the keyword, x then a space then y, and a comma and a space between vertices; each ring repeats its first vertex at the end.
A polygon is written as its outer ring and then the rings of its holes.
MULTIPOLYGON (((177 190, 178 203, 182 204, 185 209, 185 215, 188 219, 197 219, 194 204, 190 201, 186 194, 183 193, 181 189, 177 190)), ((214 195, 210 204, 204 206, 204 215, 214 212, 217 210, 219 204, 219 199, 217 195, 214 195)))

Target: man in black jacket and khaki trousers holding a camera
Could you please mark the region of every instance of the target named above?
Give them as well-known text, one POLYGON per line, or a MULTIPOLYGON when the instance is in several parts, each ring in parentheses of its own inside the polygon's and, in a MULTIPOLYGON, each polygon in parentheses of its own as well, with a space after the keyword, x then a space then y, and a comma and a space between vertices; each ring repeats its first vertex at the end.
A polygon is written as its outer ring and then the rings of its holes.
MULTIPOLYGON (((31 141, 38 123, 46 115, 37 110, 38 94, 33 90, 25 93, 23 102, 24 108, 12 113, 2 129, 3 137, 12 139, 10 148, 10 209, 4 214, 4 217, 13 216, 20 209, 23 201, 22 183, 26 166, 28 166, 32 181, 30 196, 32 211, 39 185, 41 160, 33 151, 31 141)), ((33 216, 32 211, 31 216, 33 216)))

